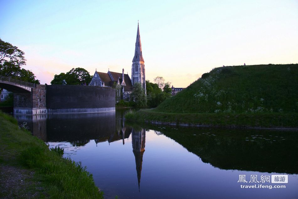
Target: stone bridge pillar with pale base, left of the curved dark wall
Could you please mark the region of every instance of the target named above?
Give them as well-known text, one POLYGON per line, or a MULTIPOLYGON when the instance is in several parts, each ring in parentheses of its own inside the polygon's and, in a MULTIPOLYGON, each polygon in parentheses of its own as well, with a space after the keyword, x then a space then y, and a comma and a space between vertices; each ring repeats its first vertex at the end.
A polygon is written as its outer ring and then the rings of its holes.
POLYGON ((14 93, 13 113, 21 115, 46 114, 46 86, 37 84, 31 93, 14 93))

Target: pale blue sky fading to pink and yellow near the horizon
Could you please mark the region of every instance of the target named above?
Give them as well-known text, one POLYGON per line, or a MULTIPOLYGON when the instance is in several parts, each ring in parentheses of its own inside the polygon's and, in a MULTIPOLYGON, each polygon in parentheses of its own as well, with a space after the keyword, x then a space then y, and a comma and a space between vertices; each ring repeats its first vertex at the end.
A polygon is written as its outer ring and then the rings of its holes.
POLYGON ((1 2, 0 38, 42 84, 76 67, 131 76, 138 20, 151 82, 186 87, 222 65, 298 62, 297 0, 1 2))

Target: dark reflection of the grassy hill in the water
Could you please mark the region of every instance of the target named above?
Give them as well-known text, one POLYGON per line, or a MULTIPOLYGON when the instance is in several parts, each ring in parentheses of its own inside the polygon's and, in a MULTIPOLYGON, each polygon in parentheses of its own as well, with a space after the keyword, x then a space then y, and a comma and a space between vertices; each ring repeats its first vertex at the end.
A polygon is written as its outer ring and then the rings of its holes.
POLYGON ((220 169, 298 173, 298 137, 294 131, 143 127, 162 132, 203 162, 220 169))

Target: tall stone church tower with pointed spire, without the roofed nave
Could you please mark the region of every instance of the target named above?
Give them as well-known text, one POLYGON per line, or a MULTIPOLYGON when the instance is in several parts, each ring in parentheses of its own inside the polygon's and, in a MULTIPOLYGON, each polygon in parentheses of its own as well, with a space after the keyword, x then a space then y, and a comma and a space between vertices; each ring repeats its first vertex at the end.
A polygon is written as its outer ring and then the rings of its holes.
POLYGON ((144 64, 144 59, 142 54, 139 22, 138 22, 138 30, 136 32, 135 56, 132 59, 132 65, 131 65, 131 83, 132 85, 134 85, 136 82, 139 82, 142 84, 146 94, 145 64, 144 64))

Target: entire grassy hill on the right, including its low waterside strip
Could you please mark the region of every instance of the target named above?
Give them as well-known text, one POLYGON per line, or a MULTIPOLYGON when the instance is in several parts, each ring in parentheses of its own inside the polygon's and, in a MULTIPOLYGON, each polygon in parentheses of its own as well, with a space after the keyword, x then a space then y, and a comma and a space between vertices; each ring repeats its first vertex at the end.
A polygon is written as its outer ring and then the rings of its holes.
POLYGON ((227 66, 204 73, 155 109, 127 120, 178 125, 298 127, 298 64, 227 66))

